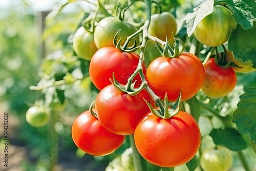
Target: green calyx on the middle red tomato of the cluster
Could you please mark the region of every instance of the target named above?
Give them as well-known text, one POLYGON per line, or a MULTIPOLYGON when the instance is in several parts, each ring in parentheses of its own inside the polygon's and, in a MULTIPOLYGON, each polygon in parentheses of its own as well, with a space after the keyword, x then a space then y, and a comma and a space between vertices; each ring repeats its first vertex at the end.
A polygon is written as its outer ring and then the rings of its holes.
POLYGON ((125 86, 123 86, 122 84, 120 84, 119 82, 117 82, 115 74, 113 73, 113 79, 110 78, 111 83, 113 84, 113 86, 120 92, 129 94, 131 96, 135 96, 137 95, 140 91, 142 91, 145 87, 147 82, 144 81, 142 82, 142 84, 140 84, 139 88, 135 88, 135 83, 136 80, 132 83, 129 84, 127 83, 125 86))

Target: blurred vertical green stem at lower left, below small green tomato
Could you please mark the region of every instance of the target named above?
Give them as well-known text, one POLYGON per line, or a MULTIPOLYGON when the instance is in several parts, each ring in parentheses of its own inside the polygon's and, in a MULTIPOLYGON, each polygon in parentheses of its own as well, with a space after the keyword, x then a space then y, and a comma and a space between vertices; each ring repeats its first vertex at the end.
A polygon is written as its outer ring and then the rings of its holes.
POLYGON ((51 139, 51 146, 49 151, 49 157, 50 157, 50 167, 49 170, 54 171, 55 166, 58 162, 58 150, 56 149, 56 146, 58 145, 58 134, 55 130, 55 123, 57 122, 56 112, 53 112, 51 114, 51 120, 50 120, 50 139, 51 139))

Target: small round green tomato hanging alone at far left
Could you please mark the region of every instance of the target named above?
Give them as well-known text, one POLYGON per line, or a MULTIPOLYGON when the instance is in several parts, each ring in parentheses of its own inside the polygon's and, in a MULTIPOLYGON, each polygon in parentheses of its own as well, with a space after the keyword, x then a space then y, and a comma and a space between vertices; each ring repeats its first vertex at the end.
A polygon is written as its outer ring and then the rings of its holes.
POLYGON ((32 106, 26 112, 27 122, 34 127, 45 126, 50 117, 50 112, 44 106, 32 106))

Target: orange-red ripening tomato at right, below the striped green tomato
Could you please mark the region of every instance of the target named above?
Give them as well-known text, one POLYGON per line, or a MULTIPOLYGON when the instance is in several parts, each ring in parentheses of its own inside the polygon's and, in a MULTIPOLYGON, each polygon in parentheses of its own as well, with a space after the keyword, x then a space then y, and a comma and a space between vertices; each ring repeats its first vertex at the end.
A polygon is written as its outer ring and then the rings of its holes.
POLYGON ((228 95, 237 84, 236 72, 230 67, 222 68, 210 58, 205 65, 205 80, 202 92, 212 98, 228 95))

